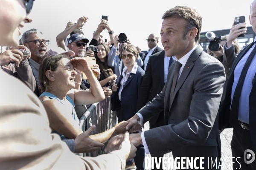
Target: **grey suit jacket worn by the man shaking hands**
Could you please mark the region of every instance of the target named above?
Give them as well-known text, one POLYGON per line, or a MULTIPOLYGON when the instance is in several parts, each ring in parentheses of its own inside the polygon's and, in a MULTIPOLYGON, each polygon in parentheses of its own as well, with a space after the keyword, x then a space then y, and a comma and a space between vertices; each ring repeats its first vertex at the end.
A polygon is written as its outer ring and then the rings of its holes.
POLYGON ((175 62, 163 91, 138 111, 144 122, 160 111, 165 113, 165 126, 145 131, 151 156, 186 146, 218 146, 216 117, 226 79, 223 65, 198 45, 183 68, 170 106, 174 66, 175 62))

